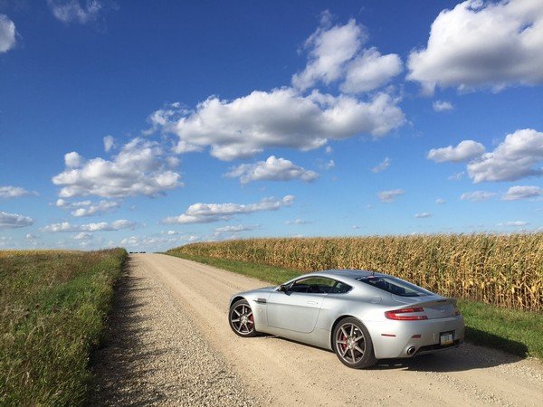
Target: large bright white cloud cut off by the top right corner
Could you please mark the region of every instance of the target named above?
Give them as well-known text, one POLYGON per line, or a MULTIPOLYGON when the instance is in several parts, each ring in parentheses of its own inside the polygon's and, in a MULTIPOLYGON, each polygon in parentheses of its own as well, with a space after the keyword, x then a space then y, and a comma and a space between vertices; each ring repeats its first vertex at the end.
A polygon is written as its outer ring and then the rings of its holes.
POLYGON ((427 92, 543 83, 543 2, 468 0, 443 10, 408 67, 407 79, 427 92))

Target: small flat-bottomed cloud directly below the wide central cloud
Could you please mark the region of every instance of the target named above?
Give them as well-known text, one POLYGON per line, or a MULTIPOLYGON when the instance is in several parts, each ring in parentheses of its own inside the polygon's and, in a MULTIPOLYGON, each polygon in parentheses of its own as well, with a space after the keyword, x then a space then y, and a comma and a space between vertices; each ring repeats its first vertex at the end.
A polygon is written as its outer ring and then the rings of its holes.
POLYGON ((314 171, 296 166, 285 158, 276 158, 275 156, 270 156, 266 161, 259 161, 255 164, 235 166, 225 176, 239 177, 242 184, 252 181, 290 181, 292 179, 311 182, 319 177, 314 171))

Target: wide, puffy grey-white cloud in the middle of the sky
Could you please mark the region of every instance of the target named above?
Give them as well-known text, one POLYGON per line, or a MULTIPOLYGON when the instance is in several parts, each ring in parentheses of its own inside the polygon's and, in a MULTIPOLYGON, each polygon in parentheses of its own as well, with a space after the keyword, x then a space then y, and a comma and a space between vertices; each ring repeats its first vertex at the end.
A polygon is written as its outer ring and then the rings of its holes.
POLYGON ((212 156, 228 161, 254 156, 264 148, 306 151, 329 139, 386 136, 405 122, 398 101, 386 93, 362 101, 317 90, 308 96, 291 88, 255 90, 233 100, 206 99, 175 124, 168 123, 167 129, 179 137, 177 153, 210 147, 212 156))

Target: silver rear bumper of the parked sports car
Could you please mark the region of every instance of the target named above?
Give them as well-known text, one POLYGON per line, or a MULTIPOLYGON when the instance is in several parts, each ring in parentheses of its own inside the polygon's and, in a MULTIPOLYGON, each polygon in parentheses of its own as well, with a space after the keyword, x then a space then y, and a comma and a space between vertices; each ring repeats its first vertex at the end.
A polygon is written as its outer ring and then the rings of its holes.
POLYGON ((367 323, 377 359, 413 357, 458 347, 464 338, 462 316, 422 321, 367 323), (441 335, 452 332, 452 344, 442 345, 441 335))

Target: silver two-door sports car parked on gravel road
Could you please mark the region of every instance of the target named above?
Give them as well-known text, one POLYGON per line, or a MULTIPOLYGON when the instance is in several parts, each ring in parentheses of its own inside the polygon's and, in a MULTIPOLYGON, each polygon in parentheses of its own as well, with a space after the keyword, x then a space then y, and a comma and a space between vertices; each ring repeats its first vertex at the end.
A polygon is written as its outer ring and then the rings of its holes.
POLYGON ((323 347, 355 368, 458 347, 464 337, 455 299, 364 270, 319 271, 236 294, 228 321, 239 336, 323 347))

